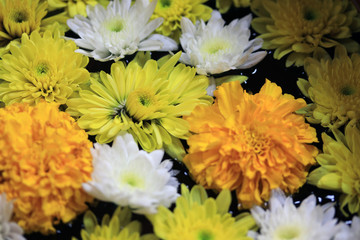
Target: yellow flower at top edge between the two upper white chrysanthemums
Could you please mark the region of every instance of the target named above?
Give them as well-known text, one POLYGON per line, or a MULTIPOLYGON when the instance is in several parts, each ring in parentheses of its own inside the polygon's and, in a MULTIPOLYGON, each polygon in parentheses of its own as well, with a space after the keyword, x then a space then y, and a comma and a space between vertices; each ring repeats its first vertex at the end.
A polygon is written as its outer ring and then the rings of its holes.
POLYGON ((193 23, 200 19, 204 21, 210 19, 212 8, 203 4, 207 1, 208 0, 158 0, 151 19, 161 17, 164 19, 164 22, 156 31, 178 41, 181 35, 181 18, 186 17, 193 23))

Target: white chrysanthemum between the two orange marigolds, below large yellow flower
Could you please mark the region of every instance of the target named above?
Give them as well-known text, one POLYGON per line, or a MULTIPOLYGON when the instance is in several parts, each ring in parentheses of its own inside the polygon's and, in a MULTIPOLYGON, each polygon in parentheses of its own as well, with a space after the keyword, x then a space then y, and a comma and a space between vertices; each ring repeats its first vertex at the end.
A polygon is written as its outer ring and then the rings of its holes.
POLYGON ((154 214, 159 205, 170 207, 179 196, 171 161, 161 162, 164 151, 139 150, 131 134, 117 136, 112 147, 95 143, 91 154, 92 181, 83 188, 97 199, 154 214))

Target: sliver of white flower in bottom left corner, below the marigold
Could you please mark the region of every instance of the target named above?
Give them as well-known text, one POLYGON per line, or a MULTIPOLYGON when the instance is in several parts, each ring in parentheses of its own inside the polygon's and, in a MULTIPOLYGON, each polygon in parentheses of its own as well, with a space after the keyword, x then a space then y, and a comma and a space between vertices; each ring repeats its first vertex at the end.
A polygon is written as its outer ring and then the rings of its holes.
POLYGON ((25 240, 23 230, 17 223, 10 222, 13 211, 12 201, 6 200, 6 194, 0 195, 0 239, 25 240))

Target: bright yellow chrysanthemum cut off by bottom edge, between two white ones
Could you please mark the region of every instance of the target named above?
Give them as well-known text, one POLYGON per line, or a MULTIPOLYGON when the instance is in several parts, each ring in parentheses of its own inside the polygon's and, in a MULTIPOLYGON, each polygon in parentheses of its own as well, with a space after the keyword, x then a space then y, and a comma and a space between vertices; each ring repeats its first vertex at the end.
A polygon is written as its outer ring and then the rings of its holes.
POLYGON ((158 213, 148 216, 156 236, 164 240, 181 239, 239 239, 250 240, 247 232, 255 227, 249 213, 235 218, 228 212, 231 203, 229 190, 220 192, 216 199, 208 198, 201 186, 191 191, 182 184, 181 196, 173 212, 159 207, 158 213))

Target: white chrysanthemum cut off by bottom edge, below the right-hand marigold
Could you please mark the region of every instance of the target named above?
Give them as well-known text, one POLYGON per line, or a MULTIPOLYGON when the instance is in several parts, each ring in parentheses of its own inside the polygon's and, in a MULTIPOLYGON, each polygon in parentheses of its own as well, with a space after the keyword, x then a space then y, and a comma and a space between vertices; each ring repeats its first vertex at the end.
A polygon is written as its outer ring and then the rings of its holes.
POLYGON ((310 195, 296 208, 279 189, 272 191, 268 210, 255 206, 251 214, 260 227, 260 233, 249 232, 255 240, 330 240, 339 229, 332 203, 317 206, 310 195))

